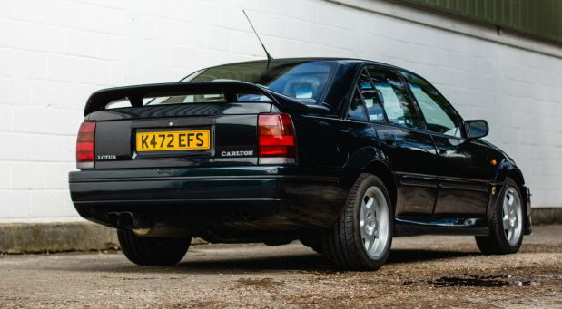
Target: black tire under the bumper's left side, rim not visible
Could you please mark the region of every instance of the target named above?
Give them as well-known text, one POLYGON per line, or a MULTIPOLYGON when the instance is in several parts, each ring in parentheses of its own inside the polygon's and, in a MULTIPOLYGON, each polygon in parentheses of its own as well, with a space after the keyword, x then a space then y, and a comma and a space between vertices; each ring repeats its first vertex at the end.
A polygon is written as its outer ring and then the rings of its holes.
POLYGON ((192 238, 138 237, 127 229, 118 229, 117 238, 123 254, 138 265, 176 265, 192 243, 192 238))

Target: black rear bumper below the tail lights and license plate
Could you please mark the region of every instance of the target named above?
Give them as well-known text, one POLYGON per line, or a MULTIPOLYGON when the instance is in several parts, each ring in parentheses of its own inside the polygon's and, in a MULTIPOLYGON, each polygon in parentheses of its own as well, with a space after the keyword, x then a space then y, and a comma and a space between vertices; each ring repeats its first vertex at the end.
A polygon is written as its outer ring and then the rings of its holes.
POLYGON ((133 211, 153 221, 329 227, 347 190, 340 171, 299 167, 84 170, 69 174, 82 217, 133 211))

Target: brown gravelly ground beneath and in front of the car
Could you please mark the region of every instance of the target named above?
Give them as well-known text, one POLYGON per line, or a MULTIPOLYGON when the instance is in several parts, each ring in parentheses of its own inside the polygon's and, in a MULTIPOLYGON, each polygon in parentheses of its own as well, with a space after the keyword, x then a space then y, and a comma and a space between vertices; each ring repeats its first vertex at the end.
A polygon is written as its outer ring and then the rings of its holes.
POLYGON ((481 256, 473 237, 396 238, 377 272, 335 272, 286 246, 192 246, 179 266, 120 252, 0 256, 0 308, 560 307, 562 226, 521 251, 481 256))

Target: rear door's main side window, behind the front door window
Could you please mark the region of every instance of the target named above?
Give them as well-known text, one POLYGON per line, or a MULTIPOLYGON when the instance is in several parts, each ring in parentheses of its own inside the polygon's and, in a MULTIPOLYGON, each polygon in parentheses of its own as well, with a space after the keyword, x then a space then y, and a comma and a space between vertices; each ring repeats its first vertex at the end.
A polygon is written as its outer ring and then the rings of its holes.
POLYGON ((416 108, 399 75, 389 69, 370 67, 368 72, 375 86, 375 98, 384 108, 389 123, 407 128, 421 128, 416 108))

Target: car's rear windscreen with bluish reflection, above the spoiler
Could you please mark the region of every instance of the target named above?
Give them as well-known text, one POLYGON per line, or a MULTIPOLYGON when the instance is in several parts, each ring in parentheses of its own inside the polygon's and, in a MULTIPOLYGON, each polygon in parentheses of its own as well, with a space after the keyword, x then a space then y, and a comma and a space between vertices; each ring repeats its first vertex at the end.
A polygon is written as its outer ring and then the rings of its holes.
MULTIPOLYGON (((322 98, 333 63, 323 61, 232 63, 195 72, 182 82, 251 82, 305 104, 322 98)), ((239 101, 269 101, 260 94, 239 95, 239 101)), ((188 101, 184 101, 188 102, 188 101)))

